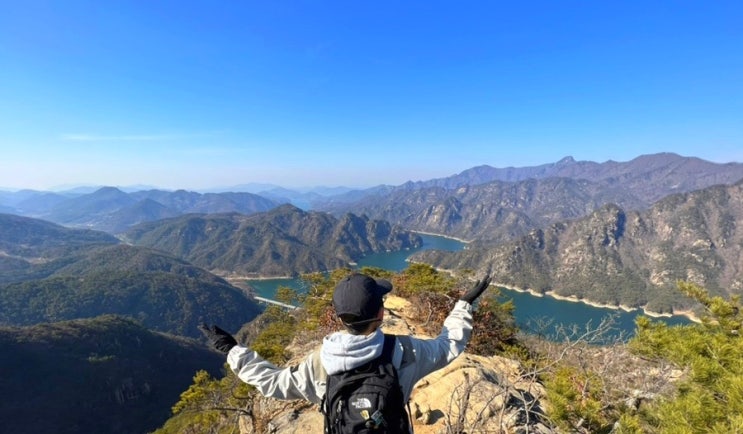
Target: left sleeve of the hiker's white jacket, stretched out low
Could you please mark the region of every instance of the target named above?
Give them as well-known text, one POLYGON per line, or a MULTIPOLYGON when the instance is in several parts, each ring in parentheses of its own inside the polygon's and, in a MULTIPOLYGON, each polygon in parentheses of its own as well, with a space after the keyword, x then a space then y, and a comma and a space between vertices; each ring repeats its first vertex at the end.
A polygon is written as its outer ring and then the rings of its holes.
POLYGON ((325 393, 325 370, 317 352, 301 363, 279 368, 250 348, 235 346, 227 354, 230 369, 264 396, 276 399, 304 399, 320 403, 325 393))

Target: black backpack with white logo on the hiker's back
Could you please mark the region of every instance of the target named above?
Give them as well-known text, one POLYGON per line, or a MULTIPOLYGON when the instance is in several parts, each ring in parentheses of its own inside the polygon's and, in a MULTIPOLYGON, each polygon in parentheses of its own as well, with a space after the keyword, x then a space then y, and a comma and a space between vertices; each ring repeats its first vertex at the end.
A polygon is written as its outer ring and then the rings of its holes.
POLYGON ((359 368, 328 375, 322 401, 325 433, 410 432, 397 370, 392 365, 395 336, 384 335, 382 355, 359 368))

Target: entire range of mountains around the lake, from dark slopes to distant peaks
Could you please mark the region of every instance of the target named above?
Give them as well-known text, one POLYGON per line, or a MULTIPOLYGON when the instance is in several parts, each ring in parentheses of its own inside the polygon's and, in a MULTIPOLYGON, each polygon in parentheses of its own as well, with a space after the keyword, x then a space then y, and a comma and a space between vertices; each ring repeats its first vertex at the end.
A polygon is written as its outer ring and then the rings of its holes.
MULTIPOLYGON (((35 374, 0 382, 0 393, 36 402, 22 382, 28 390, 47 382, 65 388, 70 405, 48 394, 35 405, 47 420, 76 422, 35 432, 98 432, 87 425, 96 421, 79 415, 102 402, 124 413, 130 404, 156 407, 152 418, 162 421, 174 392, 162 395, 167 404, 148 401, 163 389, 149 376, 127 377, 137 371, 127 364, 168 362, 151 374, 177 374, 172 390, 180 391, 195 366, 214 366, 195 349, 196 326, 238 330, 261 311, 227 278, 347 267, 372 252, 420 246, 411 231, 468 241, 461 252, 411 258, 439 268, 487 271, 502 285, 611 306, 690 309, 676 280, 743 294, 742 190, 743 164, 655 154, 626 163, 567 157, 535 167, 479 166, 323 194, 0 192, 0 365, 35 374), (63 358, 59 375, 47 353, 63 358), (203 363, 173 368, 180 357, 203 363), (163 374, 169 366, 174 372, 163 374), (101 391, 83 389, 83 380, 101 391)), ((3 406, 9 413, 0 420, 32 417, 20 407, 3 406)), ((128 422, 116 416, 112 423, 122 427, 117 432, 143 432, 128 422)))

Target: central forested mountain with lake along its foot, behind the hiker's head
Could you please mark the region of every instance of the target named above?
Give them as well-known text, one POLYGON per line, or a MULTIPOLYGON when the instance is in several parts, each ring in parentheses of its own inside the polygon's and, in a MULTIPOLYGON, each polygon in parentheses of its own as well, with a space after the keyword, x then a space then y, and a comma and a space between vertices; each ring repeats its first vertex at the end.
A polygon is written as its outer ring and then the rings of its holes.
POLYGON ((286 276, 346 267, 372 252, 418 247, 418 235, 385 221, 282 205, 244 214, 187 215, 144 223, 122 237, 220 275, 286 276))

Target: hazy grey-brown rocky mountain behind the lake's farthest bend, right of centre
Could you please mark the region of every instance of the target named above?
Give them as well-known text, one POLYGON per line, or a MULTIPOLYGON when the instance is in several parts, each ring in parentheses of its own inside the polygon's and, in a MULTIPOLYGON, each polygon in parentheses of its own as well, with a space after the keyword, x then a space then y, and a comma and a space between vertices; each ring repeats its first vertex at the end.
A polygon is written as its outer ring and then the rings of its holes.
POLYGON ((605 202, 641 206, 625 190, 603 191, 598 184, 584 180, 550 178, 494 181, 455 190, 396 190, 335 209, 354 209, 413 230, 497 243, 540 225, 584 216, 605 202))

